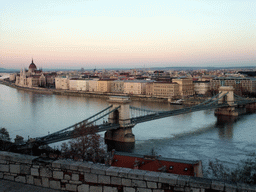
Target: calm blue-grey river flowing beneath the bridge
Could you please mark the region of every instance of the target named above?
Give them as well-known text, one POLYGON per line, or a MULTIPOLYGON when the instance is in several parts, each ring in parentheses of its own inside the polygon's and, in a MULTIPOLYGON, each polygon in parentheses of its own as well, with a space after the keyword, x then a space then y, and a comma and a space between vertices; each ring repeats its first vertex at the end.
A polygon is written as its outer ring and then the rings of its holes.
MULTIPOLYGON (((182 107, 139 101, 131 105, 151 110, 182 107)), ((5 127, 12 139, 53 133, 107 106, 104 99, 37 94, 0 84, 0 127, 5 127)), ((256 114, 217 120, 213 110, 154 120, 133 128, 134 153, 148 154, 154 148, 163 157, 202 160, 204 166, 215 158, 235 165, 255 152, 255 125, 256 114)))

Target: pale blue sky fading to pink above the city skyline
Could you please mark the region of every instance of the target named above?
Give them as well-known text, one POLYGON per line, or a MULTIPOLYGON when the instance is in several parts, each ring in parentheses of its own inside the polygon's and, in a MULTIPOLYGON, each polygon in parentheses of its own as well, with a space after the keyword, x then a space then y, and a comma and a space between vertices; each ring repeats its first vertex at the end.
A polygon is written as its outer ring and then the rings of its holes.
POLYGON ((0 68, 256 66, 255 0, 0 1, 0 68))

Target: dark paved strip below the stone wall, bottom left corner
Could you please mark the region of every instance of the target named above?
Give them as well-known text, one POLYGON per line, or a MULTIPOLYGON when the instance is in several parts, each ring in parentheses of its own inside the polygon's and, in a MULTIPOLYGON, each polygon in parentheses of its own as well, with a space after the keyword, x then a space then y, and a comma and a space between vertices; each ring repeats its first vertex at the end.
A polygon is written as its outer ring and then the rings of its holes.
MULTIPOLYGON (((60 190, 49 189, 24 183, 0 179, 1 192, 60 192, 60 190)), ((63 191, 62 191, 63 192, 63 191)))

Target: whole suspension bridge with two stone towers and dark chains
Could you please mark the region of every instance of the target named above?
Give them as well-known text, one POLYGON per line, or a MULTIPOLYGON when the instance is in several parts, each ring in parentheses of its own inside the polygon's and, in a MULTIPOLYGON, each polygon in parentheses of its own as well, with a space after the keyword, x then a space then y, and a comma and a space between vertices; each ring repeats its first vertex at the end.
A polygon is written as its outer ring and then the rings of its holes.
POLYGON ((215 109, 216 115, 239 116, 245 114, 247 109, 256 108, 256 99, 237 96, 233 87, 228 86, 220 87, 217 95, 198 105, 170 111, 152 111, 130 106, 129 97, 112 96, 108 102, 109 107, 83 121, 45 136, 16 143, 16 150, 37 149, 42 145, 103 131, 106 131, 105 140, 111 142, 113 148, 123 150, 122 145, 134 147, 135 136, 132 128, 139 123, 209 109, 215 109), (102 123, 102 119, 106 117, 108 121, 102 123))

